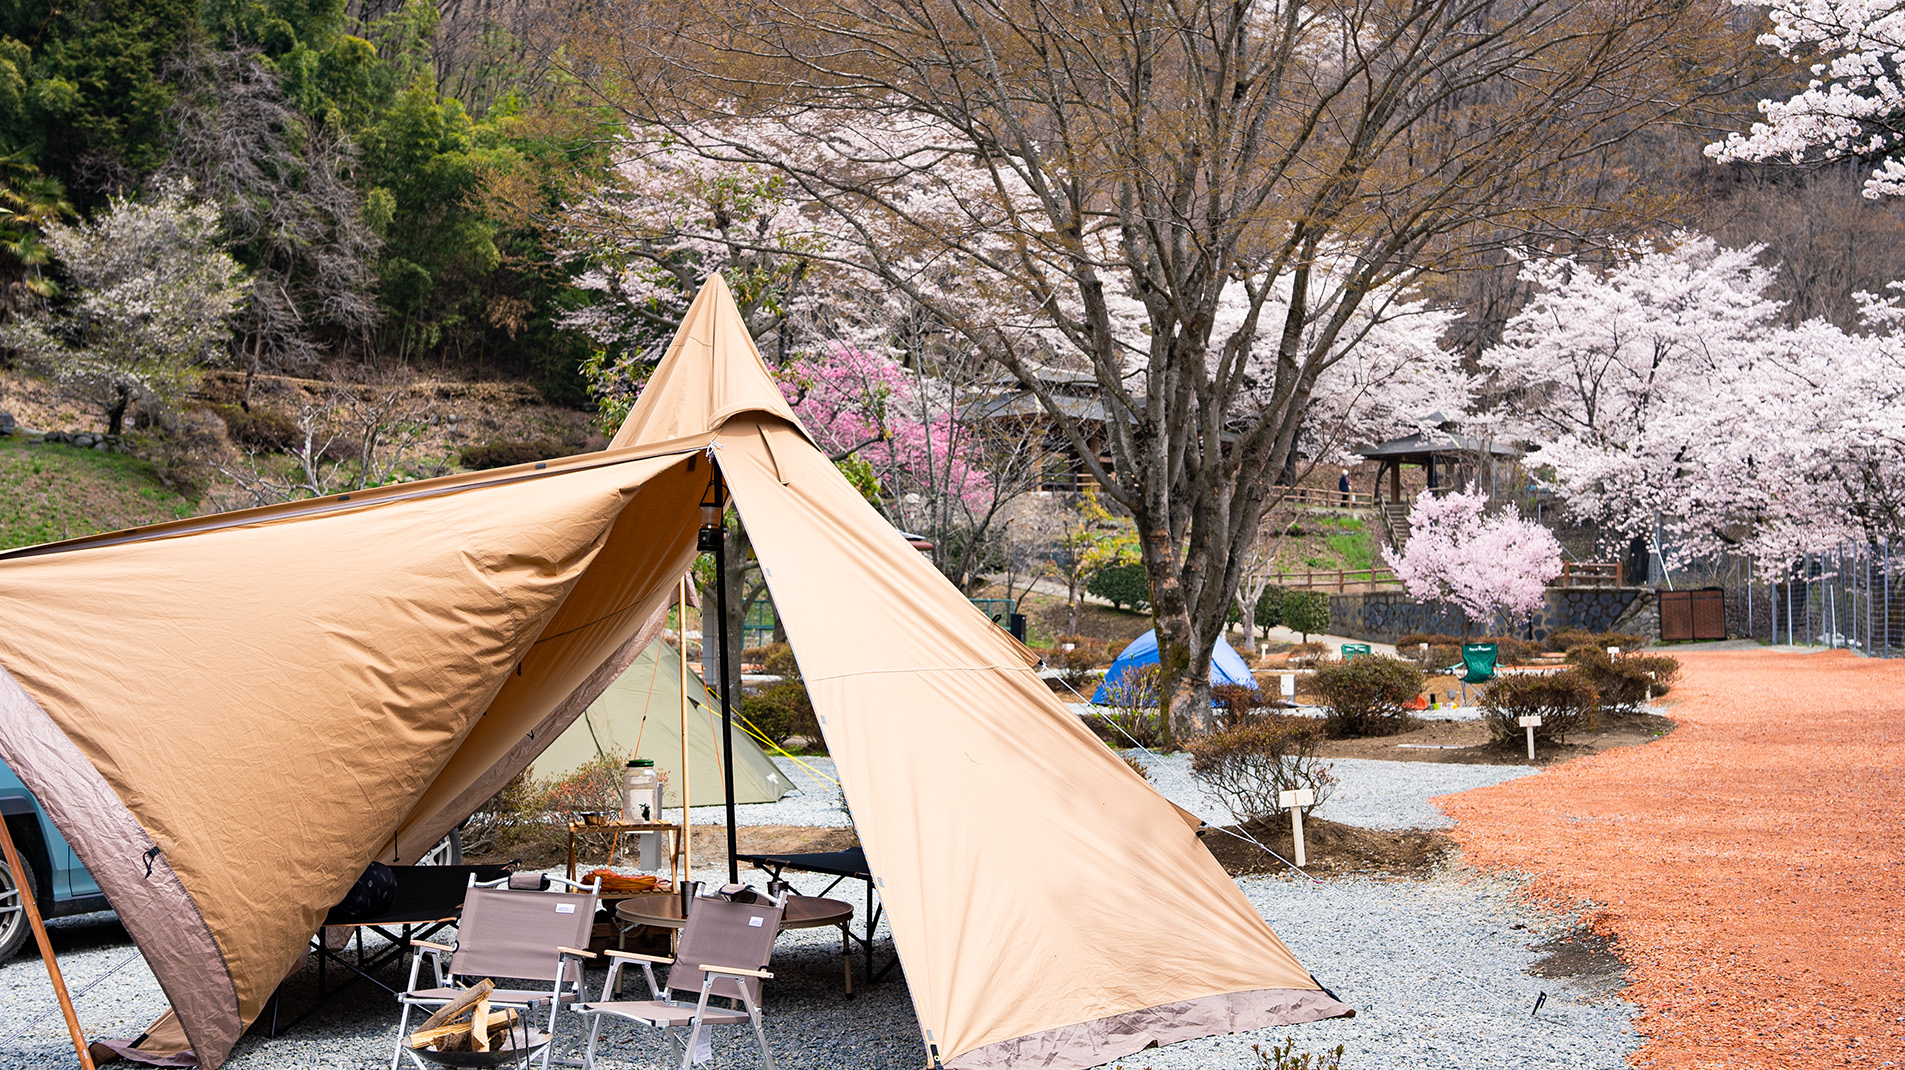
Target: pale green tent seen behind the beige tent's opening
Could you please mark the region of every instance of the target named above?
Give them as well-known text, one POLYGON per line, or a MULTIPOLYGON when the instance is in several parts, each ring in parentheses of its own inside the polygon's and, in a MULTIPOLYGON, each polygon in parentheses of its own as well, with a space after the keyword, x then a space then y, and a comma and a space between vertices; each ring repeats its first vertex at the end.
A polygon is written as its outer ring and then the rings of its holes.
MULTIPOLYGON (((667 773, 661 805, 682 805, 682 655, 655 640, 636 655, 602 695, 575 718, 530 767, 535 777, 560 777, 604 754, 653 758, 667 773)), ((720 703, 701 676, 688 670, 688 792, 690 805, 720 805, 720 703)), ((760 746, 733 727, 733 802, 779 802, 794 790, 760 746)))

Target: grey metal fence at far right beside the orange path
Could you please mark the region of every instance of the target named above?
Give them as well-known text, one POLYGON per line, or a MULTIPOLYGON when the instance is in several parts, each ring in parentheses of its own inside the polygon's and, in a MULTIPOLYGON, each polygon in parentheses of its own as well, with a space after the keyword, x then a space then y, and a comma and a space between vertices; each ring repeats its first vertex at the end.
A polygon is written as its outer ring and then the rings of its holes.
POLYGON ((1724 573, 1713 579, 1735 636, 1905 657, 1905 543, 1806 554, 1781 571, 1728 562, 1724 573))

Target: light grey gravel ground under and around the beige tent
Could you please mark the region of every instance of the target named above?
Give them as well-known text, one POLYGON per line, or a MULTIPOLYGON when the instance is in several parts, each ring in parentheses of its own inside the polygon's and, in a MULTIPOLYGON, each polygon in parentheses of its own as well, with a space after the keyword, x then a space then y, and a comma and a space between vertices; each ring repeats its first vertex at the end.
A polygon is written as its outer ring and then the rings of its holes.
MULTIPOLYGON (((806 760, 831 775, 825 760, 806 760)), ((806 784, 777 805, 741 807, 747 824, 846 824, 836 788, 796 763, 781 760, 796 783, 806 784)), ((1345 822, 1402 828, 1446 824, 1429 798, 1532 773, 1526 767, 1438 765, 1414 762, 1337 760, 1343 777, 1326 817, 1345 822)), ((1160 760, 1154 777, 1166 796, 1206 819, 1229 821, 1202 798, 1185 773, 1183 758, 1160 760)), ((714 817, 718 809, 709 809, 714 817)), ((697 813, 697 819, 701 815, 697 813)), ((718 880, 718 870, 697 872, 718 880)), ((758 878, 758 874, 752 874, 758 878)), ((819 893, 825 878, 796 876, 802 891, 819 893)), ((1252 1045, 1271 1045, 1284 1036, 1297 1051, 1343 1045, 1343 1066, 1356 1070, 1492 1070, 1492 1068, 1589 1068, 1614 1070, 1634 1049, 1633 1007, 1598 986, 1570 986, 1528 975, 1537 952, 1532 944, 1570 925, 1524 906, 1516 885, 1467 870, 1440 872, 1423 882, 1337 880, 1313 883, 1292 878, 1238 882, 1297 958, 1341 1000, 1356 1007, 1347 1020, 1255 1030, 1208 1038, 1118 1062, 1124 1070, 1255 1070, 1252 1045), (1530 1017, 1535 992, 1549 1001, 1530 1017)), ((855 882, 834 891, 863 910, 855 882)), ((61 965, 78 990, 122 961, 131 944, 110 914, 53 923, 61 965)), ((876 958, 892 956, 882 925, 876 958)), ((857 960, 857 956, 855 956, 857 960)), ((787 933, 775 950, 777 981, 770 990, 768 1028, 775 1059, 789 1070, 916 1070, 918 1022, 899 971, 890 973, 855 1000, 842 998, 840 942, 834 931, 787 933)), ((855 982, 861 965, 855 961, 855 982)), ((383 977, 400 982, 394 973, 383 977)), ((335 982, 335 971, 333 971, 335 982)), ((600 971, 589 984, 598 990, 600 971)), ((282 1019, 312 1005, 316 977, 307 969, 286 988, 282 1019)), ((90 1036, 135 1036, 164 1007, 150 971, 135 960, 110 981, 80 998, 80 1019, 90 1036)), ((0 1028, 15 1034, 0 1041, 0 1070, 25 1070, 70 1062, 63 1055, 65 1030, 57 1011, 36 1024, 34 1015, 53 1009, 46 973, 32 958, 0 967, 0 1028)), ((248 1036, 229 1066, 265 1070, 291 1066, 387 1066, 396 1030, 394 1000, 370 984, 335 998, 309 1020, 276 1040, 248 1036)), ((659 1070, 665 1047, 629 1026, 610 1032, 613 1047, 606 1070, 659 1070)), ((722 1066, 751 1066, 747 1034, 720 1041, 722 1066)), ((566 1022, 558 1053, 573 1055, 581 1030, 566 1022)))

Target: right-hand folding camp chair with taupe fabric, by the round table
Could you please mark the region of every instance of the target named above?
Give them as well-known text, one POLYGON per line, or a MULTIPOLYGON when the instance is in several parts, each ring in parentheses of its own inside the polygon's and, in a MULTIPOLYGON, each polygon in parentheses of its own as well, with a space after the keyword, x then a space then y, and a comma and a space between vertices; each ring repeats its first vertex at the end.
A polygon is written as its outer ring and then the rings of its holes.
POLYGON ((762 1062, 768 1070, 775 1070, 773 1053, 768 1051, 768 1032, 760 1024, 760 982, 773 977, 766 965, 773 954, 773 937, 781 931, 785 899, 760 895, 745 885, 728 885, 712 897, 692 895, 688 902, 688 923, 682 927, 672 960, 634 952, 604 952, 610 956, 610 967, 608 981, 602 984, 602 1001, 575 1005, 575 1013, 594 1019, 589 1026, 583 1066, 594 1066, 602 1019, 613 1015, 659 1028, 669 1040, 669 1053, 680 1060, 682 1070, 690 1070, 693 1064, 703 1028, 752 1024, 762 1062), (631 961, 642 967, 652 1000, 612 1000, 621 984, 621 971, 631 961), (657 965, 669 967, 667 988, 655 982, 657 965), (741 1005, 711 1007, 711 998, 741 1005), (674 1034, 676 1026, 688 1026, 686 1043, 674 1034))

